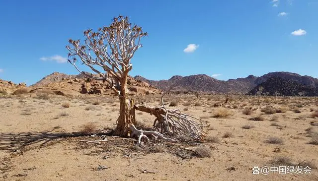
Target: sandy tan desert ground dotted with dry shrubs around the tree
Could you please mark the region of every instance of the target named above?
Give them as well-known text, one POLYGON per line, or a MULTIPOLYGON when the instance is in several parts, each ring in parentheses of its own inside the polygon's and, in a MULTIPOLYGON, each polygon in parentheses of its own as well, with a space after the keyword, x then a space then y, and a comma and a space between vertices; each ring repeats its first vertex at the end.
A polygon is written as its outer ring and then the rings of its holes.
MULTIPOLYGON (((159 106, 160 95, 142 101, 159 106)), ((168 109, 208 121, 202 143, 108 135, 119 114, 112 96, 0 98, 1 181, 314 181, 318 180, 318 98, 166 95, 168 109), (96 134, 94 136, 94 134, 96 134), (93 135, 93 136, 92 136, 93 135), (97 143, 81 140, 106 139, 97 143), (104 138, 103 138, 104 139, 104 138), (253 175, 254 166, 302 166, 310 174, 253 175)), ((136 111, 138 127, 155 117, 136 111)))

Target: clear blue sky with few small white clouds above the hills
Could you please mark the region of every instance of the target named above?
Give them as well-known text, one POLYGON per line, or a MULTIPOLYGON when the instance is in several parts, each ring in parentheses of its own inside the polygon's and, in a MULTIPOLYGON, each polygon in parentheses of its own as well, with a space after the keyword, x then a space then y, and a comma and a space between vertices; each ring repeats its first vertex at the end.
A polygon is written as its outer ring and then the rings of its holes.
MULTIPOLYGON (((147 31, 130 75, 220 80, 290 71, 318 78, 318 0, 2 0, 0 78, 78 74, 68 39, 129 16, 147 31)), ((88 70, 88 69, 84 69, 88 70)))

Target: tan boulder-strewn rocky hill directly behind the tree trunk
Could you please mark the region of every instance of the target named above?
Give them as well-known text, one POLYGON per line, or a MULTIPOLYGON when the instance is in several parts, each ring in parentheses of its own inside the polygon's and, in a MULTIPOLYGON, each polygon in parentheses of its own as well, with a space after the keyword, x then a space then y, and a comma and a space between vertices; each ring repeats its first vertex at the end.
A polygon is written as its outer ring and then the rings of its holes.
MULTIPOLYGON (((130 94, 159 94, 160 91, 147 82, 135 80, 129 76, 127 80, 130 94)), ((25 85, 25 84, 24 84, 25 85)), ((106 82, 93 80, 85 77, 83 74, 67 75, 64 73, 53 72, 45 76, 40 81, 29 87, 20 87, 14 89, 9 94, 32 94, 32 93, 46 93, 65 96, 79 96, 81 94, 100 94, 111 95, 113 91, 110 90, 106 82)))

